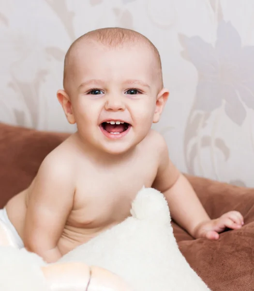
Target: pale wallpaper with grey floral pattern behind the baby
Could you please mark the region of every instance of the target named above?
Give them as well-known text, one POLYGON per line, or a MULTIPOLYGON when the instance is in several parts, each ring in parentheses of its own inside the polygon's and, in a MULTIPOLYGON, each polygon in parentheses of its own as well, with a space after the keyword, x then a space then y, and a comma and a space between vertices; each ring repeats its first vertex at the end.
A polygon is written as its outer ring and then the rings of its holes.
POLYGON ((81 34, 120 26, 157 46, 170 98, 154 128, 180 170, 254 187, 254 1, 0 0, 0 121, 69 131, 56 92, 81 34))

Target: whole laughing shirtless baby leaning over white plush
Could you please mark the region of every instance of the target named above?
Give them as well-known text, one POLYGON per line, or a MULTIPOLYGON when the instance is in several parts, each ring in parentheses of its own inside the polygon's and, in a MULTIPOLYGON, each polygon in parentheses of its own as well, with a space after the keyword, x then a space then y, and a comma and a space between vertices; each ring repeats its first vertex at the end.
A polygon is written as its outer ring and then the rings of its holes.
POLYGON ((144 185, 164 193, 172 218, 194 238, 219 238, 243 217, 211 220, 188 180, 151 130, 169 91, 158 50, 142 34, 105 28, 79 37, 66 53, 58 100, 77 131, 42 162, 29 188, 0 218, 19 247, 55 262, 130 215, 144 185))

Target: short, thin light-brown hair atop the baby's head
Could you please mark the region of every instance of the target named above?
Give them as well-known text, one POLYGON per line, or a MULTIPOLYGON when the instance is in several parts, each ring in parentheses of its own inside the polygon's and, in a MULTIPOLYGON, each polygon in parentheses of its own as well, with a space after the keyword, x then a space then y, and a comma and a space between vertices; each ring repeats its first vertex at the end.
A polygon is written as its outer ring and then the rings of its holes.
POLYGON ((64 59, 63 87, 66 90, 69 74, 74 65, 76 52, 87 43, 98 43, 107 49, 117 49, 126 46, 145 46, 151 50, 155 61, 156 76, 159 78, 159 86, 163 87, 162 65, 158 50, 152 42, 139 32, 124 28, 102 28, 87 32, 77 38, 68 49, 64 59))

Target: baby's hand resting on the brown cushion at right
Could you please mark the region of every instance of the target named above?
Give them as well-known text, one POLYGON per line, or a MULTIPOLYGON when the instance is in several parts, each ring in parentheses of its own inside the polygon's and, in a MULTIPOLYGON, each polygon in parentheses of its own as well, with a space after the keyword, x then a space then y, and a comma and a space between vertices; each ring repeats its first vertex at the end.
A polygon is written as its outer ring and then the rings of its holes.
POLYGON ((209 240, 218 240, 219 233, 224 229, 239 229, 243 226, 243 216, 238 211, 229 211, 217 219, 200 224, 196 231, 196 238, 207 238, 209 240))

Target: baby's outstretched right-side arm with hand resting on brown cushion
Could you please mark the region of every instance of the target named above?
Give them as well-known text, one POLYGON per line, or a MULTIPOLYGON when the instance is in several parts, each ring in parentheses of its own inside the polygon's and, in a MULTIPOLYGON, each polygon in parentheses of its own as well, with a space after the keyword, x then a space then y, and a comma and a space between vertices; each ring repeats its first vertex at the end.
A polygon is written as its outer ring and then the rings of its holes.
POLYGON ((195 238, 218 239, 218 232, 225 227, 239 228, 243 218, 237 211, 225 213, 216 220, 209 218, 190 182, 170 161, 162 137, 159 144, 159 167, 153 187, 164 193, 172 218, 195 238))

